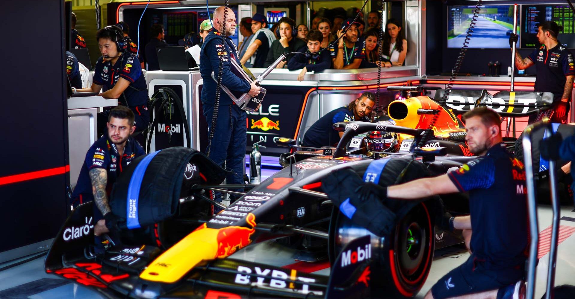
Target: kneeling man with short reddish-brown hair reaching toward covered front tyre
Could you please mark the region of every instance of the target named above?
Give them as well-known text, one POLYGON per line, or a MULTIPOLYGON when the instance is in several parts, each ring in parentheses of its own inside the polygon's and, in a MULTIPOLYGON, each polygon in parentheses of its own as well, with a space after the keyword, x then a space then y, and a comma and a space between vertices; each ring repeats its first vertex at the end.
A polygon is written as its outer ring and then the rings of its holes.
POLYGON ((472 253, 439 279, 426 299, 512 298, 524 289, 521 279, 528 245, 525 170, 501 144, 500 119, 486 107, 463 115, 469 150, 480 157, 458 170, 389 187, 375 185, 382 200, 469 192, 470 216, 451 218, 447 225, 468 233, 473 229, 472 253))

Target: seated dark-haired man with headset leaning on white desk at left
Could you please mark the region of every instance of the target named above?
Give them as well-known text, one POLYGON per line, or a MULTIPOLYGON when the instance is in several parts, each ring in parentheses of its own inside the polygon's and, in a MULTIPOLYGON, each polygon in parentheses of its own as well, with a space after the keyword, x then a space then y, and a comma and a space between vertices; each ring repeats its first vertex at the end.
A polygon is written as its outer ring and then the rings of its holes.
MULTIPOLYGON (((147 129, 150 123, 148 113, 148 87, 140 68, 140 61, 128 51, 124 33, 117 26, 106 26, 98 30, 96 40, 102 57, 94 67, 92 86, 78 91, 100 92, 106 99, 118 99, 118 104, 130 108, 135 115, 136 132, 147 129)), ((108 111, 98 115, 98 131, 104 131, 108 111)), ((99 133, 98 133, 99 134, 99 133)), ((138 134, 136 139, 144 142, 138 134)))

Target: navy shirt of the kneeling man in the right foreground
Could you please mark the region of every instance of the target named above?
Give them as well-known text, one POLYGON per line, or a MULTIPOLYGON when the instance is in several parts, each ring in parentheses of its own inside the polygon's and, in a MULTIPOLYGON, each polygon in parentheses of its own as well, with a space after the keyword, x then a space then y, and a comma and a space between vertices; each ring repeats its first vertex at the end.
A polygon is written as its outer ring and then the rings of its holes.
POLYGON ((460 192, 469 192, 473 254, 494 268, 520 265, 529 230, 522 162, 494 145, 447 175, 460 192))

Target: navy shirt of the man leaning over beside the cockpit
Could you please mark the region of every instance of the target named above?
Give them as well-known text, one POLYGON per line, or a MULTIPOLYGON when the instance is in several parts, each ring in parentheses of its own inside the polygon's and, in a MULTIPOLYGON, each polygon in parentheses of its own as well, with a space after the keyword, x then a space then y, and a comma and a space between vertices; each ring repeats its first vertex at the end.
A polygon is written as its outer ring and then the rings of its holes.
POLYGON ((339 132, 333 129, 333 124, 337 122, 352 121, 369 121, 368 117, 354 119, 354 112, 350 111, 347 106, 329 111, 323 117, 318 119, 305 132, 302 144, 304 146, 321 147, 332 146, 339 142, 339 132))

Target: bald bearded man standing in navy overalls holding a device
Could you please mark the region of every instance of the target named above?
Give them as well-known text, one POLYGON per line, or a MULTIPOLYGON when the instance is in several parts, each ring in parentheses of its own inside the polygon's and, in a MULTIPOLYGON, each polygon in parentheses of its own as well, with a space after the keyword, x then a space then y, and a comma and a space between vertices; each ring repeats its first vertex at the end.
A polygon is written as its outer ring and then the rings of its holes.
MULTIPOLYGON (((225 38, 224 43, 221 32, 225 30, 227 36, 233 36, 236 32, 236 15, 231 9, 227 8, 227 19, 224 22, 224 9, 224 6, 220 6, 214 10, 213 28, 205 37, 200 55, 200 73, 202 79, 204 79, 204 87, 201 94, 202 108, 208 122, 208 130, 213 130, 214 132, 212 143, 208 145, 206 152, 209 150, 209 157, 216 164, 223 166, 225 162, 225 166, 232 170, 232 173, 227 176, 228 184, 243 184, 244 167, 246 165, 244 158, 246 156, 247 142, 247 114, 246 111, 237 107, 225 92, 221 91, 216 127, 211 127, 212 118, 214 117, 214 99, 217 85, 217 82, 212 79, 212 72, 214 72, 214 77, 220 77, 218 72, 221 60, 223 65, 221 68, 223 72, 221 74, 222 85, 230 90, 247 92, 251 96, 257 96, 260 88, 255 85, 255 81, 250 84, 246 80, 237 77, 231 70, 229 60, 235 59, 237 63, 240 63, 240 60, 237 56, 236 46, 229 38, 225 38)), ((221 201, 221 198, 216 198, 216 200, 221 201)))

